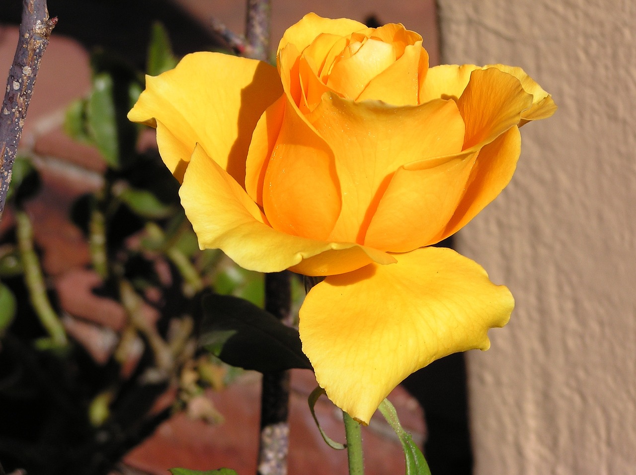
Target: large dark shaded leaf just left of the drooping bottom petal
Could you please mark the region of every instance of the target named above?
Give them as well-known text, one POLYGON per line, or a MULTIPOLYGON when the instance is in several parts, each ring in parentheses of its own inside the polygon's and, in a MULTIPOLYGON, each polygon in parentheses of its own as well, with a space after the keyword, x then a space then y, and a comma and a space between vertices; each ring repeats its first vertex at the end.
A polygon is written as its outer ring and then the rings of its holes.
POLYGON ((246 370, 312 369, 298 330, 242 298, 207 295, 199 344, 228 365, 246 370))

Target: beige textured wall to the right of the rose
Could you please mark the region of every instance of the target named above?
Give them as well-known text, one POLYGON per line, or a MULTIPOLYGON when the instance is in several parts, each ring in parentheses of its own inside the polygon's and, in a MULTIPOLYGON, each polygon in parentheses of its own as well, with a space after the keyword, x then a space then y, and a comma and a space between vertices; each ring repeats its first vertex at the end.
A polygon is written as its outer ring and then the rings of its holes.
POLYGON ((442 62, 555 98, 459 250, 517 307, 469 354, 476 474, 636 473, 636 3, 440 0, 442 62))

